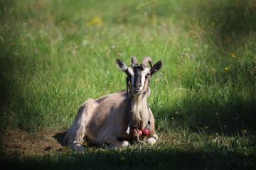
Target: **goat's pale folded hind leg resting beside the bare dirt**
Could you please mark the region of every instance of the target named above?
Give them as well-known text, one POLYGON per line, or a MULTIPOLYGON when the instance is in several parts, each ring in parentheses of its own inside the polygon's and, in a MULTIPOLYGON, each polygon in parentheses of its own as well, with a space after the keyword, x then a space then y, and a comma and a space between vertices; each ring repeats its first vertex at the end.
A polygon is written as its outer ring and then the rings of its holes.
POLYGON ((67 134, 64 137, 64 141, 68 142, 68 145, 76 150, 83 150, 82 144, 85 142, 85 123, 88 106, 87 102, 82 104, 79 108, 78 115, 76 115, 73 125, 68 129, 67 134))

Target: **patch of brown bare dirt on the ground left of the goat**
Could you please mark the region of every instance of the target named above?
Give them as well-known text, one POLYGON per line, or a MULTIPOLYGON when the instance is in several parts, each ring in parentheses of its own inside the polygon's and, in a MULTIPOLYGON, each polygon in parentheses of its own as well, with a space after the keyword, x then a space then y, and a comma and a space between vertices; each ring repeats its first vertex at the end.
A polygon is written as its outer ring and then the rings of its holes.
POLYGON ((40 132, 25 132, 9 130, 0 133, 1 159, 9 157, 26 157, 34 154, 48 154, 60 151, 65 147, 63 138, 65 132, 43 130, 40 132))

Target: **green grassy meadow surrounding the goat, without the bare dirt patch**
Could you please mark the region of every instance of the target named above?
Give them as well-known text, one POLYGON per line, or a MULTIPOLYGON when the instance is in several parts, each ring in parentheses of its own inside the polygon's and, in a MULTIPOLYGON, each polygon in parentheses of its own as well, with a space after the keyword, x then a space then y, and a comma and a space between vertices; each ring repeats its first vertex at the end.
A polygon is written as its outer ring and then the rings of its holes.
MULTIPOLYGON (((22 154, 21 169, 252 169, 256 1, 0 1, 0 129, 63 132, 87 98, 126 88, 115 60, 161 60, 148 98, 159 143, 22 154)), ((4 135, 6 136, 6 135, 4 135)), ((1 142, 5 140, 2 137, 1 142)), ((4 157, 4 156, 3 156, 4 157)))

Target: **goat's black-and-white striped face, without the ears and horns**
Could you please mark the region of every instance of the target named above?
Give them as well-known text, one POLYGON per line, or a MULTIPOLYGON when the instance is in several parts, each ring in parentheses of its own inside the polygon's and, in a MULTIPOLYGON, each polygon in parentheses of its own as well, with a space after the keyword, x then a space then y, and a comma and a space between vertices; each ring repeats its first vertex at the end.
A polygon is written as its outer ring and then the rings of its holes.
POLYGON ((150 69, 144 64, 132 64, 128 67, 127 74, 130 81, 130 88, 134 94, 141 94, 144 89, 145 82, 150 78, 150 69))

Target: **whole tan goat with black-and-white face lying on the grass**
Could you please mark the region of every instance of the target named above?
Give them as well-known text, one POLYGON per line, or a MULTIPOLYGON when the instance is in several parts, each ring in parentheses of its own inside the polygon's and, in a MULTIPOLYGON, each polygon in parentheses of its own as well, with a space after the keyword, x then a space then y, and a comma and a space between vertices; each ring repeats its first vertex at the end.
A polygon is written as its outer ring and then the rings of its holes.
POLYGON ((85 149, 82 145, 85 141, 123 148, 128 147, 129 142, 154 144, 158 140, 146 97, 150 94, 150 78, 161 69, 162 62, 156 62, 152 67, 150 57, 145 57, 141 64, 132 57, 129 67, 119 59, 116 64, 127 74, 127 90, 95 100, 89 98, 80 106, 64 138, 75 150, 85 149))

